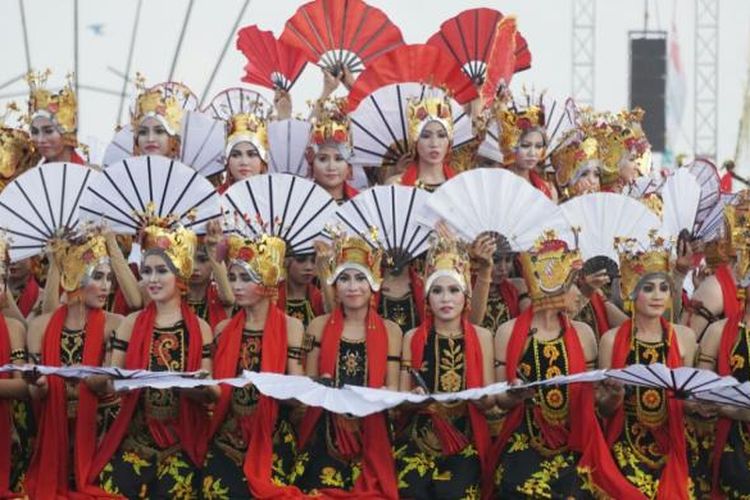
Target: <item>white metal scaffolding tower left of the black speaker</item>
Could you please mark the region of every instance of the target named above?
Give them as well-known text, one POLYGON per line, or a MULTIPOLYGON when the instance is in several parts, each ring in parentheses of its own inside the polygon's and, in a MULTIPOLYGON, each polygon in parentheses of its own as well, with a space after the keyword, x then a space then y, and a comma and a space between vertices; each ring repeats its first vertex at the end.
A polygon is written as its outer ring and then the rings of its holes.
POLYGON ((573 0, 571 95, 577 103, 593 106, 595 89, 596 1, 573 0))

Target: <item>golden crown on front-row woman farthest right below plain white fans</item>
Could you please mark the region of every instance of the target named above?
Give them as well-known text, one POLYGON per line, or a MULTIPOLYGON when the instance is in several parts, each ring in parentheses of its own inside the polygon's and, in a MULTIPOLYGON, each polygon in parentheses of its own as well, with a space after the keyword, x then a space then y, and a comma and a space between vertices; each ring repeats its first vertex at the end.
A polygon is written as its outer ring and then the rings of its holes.
POLYGON ((656 230, 649 233, 649 239, 649 246, 642 248, 633 238, 615 238, 615 250, 620 260, 620 295, 626 308, 632 304, 641 278, 652 273, 670 274, 672 271, 669 242, 658 236, 656 230))

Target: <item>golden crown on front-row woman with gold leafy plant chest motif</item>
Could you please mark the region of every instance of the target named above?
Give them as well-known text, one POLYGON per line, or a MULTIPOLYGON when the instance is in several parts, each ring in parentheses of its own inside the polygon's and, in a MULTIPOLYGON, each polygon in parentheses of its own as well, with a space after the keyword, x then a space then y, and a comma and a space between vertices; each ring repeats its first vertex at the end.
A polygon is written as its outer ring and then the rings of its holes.
POLYGON ((438 237, 430 246, 425 262, 425 296, 436 279, 448 276, 471 296, 471 261, 466 244, 452 238, 438 237))

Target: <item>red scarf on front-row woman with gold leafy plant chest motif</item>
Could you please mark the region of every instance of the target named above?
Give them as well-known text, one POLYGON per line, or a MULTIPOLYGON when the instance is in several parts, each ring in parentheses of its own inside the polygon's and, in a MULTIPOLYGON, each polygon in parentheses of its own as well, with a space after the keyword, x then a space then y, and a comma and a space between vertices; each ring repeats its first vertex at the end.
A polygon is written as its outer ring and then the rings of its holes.
MULTIPOLYGON (((483 387, 484 374, 482 372, 483 360, 482 360, 482 347, 479 344, 477 338, 477 331, 466 318, 461 320, 461 328, 464 332, 464 355, 466 357, 466 388, 472 389, 475 387, 483 387)), ((425 321, 422 325, 417 328, 414 335, 411 338, 411 367, 414 370, 419 370, 422 366, 422 360, 424 359, 424 347, 427 343, 427 335, 432 330, 432 324, 430 321, 425 321)), ((437 361, 437 360, 436 360, 437 361)), ((469 419, 471 421, 471 430, 474 437, 474 446, 479 454, 479 461, 482 466, 482 497, 489 498, 493 488, 493 477, 494 470, 492 468, 492 461, 490 460, 490 433, 487 428, 487 420, 482 415, 482 412, 473 405, 469 404, 469 419)), ((441 418, 438 415, 433 417, 441 418)), ((436 422, 438 425, 436 429, 440 429, 441 424, 436 422)), ((450 425, 444 422, 445 425, 450 425)), ((441 439, 442 441, 442 439, 441 439)), ((460 450, 456 450, 460 451, 460 450)))

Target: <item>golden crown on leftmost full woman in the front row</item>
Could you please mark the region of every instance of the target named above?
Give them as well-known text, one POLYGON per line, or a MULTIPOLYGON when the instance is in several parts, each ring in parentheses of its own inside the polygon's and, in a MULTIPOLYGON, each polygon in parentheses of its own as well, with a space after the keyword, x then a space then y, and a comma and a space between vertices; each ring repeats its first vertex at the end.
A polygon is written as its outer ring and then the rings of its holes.
POLYGON ((109 257, 106 240, 99 232, 56 240, 52 243, 52 254, 60 269, 60 282, 66 292, 81 288, 84 278, 91 274, 93 268, 102 259, 109 257))

